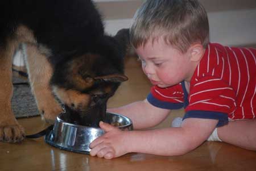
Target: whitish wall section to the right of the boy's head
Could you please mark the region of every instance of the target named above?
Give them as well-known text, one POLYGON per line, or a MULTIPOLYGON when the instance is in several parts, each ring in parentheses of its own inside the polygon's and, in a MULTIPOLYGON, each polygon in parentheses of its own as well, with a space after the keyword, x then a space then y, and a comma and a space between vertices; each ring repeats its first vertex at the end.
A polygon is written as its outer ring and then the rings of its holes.
POLYGON ((209 12, 210 41, 225 45, 256 44, 256 9, 209 12))

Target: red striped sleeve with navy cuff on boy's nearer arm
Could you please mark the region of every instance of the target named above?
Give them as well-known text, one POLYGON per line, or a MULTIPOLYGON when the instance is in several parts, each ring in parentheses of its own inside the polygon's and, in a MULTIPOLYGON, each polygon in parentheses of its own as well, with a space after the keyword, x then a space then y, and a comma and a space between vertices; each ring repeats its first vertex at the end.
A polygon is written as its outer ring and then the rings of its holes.
POLYGON ((212 76, 198 79, 190 88, 185 118, 218 119, 217 126, 228 123, 228 115, 236 110, 236 93, 229 84, 212 76))

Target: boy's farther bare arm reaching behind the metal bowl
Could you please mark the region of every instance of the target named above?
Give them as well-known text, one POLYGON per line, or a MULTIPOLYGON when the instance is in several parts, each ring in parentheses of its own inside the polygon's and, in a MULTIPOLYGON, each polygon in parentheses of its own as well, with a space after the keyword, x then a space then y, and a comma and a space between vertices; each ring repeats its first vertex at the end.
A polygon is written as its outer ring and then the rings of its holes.
POLYGON ((160 109, 151 105, 147 99, 137 101, 126 106, 108 109, 109 112, 125 115, 133 122, 135 130, 154 127, 170 114, 168 109, 160 109))

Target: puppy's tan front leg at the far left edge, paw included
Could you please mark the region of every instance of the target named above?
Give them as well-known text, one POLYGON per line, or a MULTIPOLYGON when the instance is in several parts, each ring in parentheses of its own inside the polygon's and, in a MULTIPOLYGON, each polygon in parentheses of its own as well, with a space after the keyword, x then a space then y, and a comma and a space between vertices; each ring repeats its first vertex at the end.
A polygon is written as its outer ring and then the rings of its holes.
POLYGON ((0 47, 0 141, 15 143, 24 139, 24 128, 20 126, 11 110, 13 96, 12 59, 16 43, 9 41, 0 47))

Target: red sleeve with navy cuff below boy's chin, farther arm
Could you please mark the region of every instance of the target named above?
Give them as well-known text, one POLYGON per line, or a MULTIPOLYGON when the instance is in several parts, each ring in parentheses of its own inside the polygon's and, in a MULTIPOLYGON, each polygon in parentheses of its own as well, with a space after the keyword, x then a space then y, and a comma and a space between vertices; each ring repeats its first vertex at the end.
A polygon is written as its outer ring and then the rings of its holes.
POLYGON ((166 88, 153 86, 147 96, 147 101, 162 109, 181 109, 184 107, 182 86, 181 84, 166 88))

